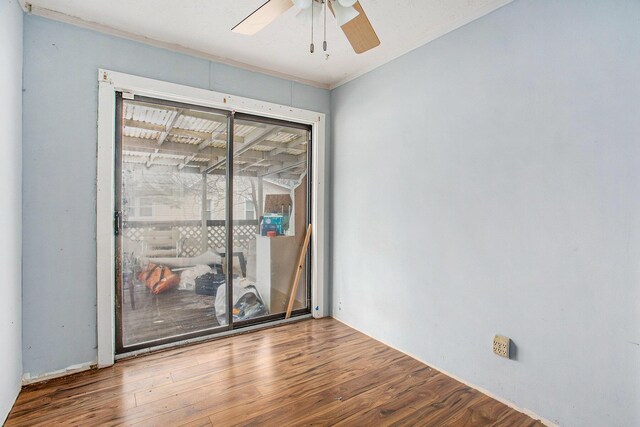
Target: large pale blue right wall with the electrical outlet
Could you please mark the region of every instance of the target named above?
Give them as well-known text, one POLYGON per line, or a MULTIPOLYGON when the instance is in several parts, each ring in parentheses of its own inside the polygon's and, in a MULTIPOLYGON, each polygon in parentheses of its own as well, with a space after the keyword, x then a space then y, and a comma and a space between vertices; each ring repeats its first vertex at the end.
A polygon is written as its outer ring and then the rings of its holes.
POLYGON ((334 315, 562 426, 640 425, 639 77, 637 0, 517 0, 332 91, 334 315))

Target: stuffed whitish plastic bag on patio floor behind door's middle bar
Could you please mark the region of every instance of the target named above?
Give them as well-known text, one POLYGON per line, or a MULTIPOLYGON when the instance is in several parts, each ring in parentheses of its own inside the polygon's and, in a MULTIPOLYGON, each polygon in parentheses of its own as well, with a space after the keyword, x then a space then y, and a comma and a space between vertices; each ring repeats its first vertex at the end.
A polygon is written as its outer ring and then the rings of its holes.
MULTIPOLYGON (((266 316, 269 310, 264 305, 260 293, 254 285, 242 286, 239 280, 233 281, 233 320, 247 320, 266 316)), ((227 324, 226 286, 220 286, 216 294, 216 317, 221 326, 227 324)))

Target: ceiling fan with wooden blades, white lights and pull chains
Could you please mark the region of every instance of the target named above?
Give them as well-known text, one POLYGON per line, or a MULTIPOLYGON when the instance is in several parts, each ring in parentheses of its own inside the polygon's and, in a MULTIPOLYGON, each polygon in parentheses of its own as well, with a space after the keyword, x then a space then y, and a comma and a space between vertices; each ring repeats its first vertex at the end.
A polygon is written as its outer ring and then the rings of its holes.
POLYGON ((369 18, 364 13, 362 5, 356 0, 268 0, 265 4, 244 18, 231 31, 238 34, 253 35, 273 22, 278 16, 285 13, 291 7, 302 9, 300 15, 311 15, 311 53, 313 45, 313 16, 319 15, 324 8, 325 15, 325 40, 323 48, 327 50, 326 42, 326 15, 327 8, 336 17, 338 25, 347 36, 349 43, 356 53, 363 53, 380 44, 380 39, 371 26, 369 18))

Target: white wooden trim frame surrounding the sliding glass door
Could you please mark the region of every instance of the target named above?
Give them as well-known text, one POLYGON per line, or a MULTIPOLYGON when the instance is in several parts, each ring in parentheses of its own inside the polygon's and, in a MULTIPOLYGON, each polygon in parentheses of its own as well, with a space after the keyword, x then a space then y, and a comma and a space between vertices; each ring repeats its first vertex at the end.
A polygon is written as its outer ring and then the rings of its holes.
POLYGON ((311 311, 324 312, 324 176, 325 115, 300 108, 168 83, 130 74, 98 71, 98 171, 96 197, 98 367, 115 360, 115 123, 116 92, 128 92, 170 101, 219 108, 287 120, 312 127, 311 311))

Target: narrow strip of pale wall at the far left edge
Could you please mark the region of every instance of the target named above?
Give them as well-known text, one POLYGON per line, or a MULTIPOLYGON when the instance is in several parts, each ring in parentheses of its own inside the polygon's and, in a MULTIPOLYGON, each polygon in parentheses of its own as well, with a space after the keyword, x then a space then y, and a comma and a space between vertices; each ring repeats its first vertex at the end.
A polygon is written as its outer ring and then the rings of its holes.
POLYGON ((22 379, 22 9, 0 0, 0 423, 22 379))

